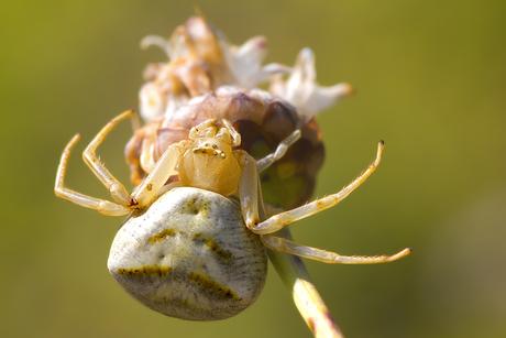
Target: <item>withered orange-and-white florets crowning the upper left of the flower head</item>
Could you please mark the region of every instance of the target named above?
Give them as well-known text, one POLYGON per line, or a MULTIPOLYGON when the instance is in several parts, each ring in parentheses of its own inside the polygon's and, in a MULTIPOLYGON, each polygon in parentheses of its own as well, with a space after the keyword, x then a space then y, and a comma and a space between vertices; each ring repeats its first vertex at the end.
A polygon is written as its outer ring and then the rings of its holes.
POLYGON ((152 45, 164 50, 169 62, 150 65, 145 72, 147 83, 141 89, 140 101, 146 121, 170 116, 191 97, 219 86, 250 89, 271 75, 289 70, 277 64, 262 66, 265 37, 256 36, 233 46, 199 17, 178 26, 169 40, 150 35, 141 42, 144 48, 152 45))

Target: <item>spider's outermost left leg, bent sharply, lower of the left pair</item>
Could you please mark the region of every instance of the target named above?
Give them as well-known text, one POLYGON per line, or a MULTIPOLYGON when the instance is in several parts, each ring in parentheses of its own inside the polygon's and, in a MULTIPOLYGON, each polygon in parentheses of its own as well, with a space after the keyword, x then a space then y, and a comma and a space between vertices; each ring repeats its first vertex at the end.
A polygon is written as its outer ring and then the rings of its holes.
POLYGON ((62 153, 62 159, 59 160, 58 170, 56 172, 55 195, 81 207, 95 209, 103 215, 122 216, 129 214, 130 209, 127 206, 87 196, 65 187, 65 175, 67 173, 68 159, 70 157, 73 148, 79 141, 79 134, 74 135, 62 153))

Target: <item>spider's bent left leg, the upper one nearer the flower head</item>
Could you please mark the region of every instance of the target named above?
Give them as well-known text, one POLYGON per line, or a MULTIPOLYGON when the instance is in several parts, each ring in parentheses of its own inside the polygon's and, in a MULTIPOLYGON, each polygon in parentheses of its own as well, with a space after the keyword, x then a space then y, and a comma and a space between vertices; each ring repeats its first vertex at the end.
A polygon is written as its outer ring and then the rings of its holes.
POLYGON ((128 110, 109 121, 95 137, 82 152, 82 160, 91 172, 108 188, 112 198, 121 205, 131 205, 132 199, 127 188, 116 178, 97 156, 97 148, 106 140, 106 137, 123 120, 133 117, 133 111, 128 110))

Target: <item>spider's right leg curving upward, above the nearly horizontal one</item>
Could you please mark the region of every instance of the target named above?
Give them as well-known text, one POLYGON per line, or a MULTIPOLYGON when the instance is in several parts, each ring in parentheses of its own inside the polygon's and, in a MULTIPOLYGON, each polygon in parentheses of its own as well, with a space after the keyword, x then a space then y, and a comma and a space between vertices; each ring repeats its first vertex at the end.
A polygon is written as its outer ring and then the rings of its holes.
POLYGON ((260 222, 251 230, 257 235, 272 233, 299 219, 309 217, 311 215, 315 215, 317 212, 336 206, 338 203, 346 198, 354 189, 362 185, 374 173, 382 160, 383 149, 384 143, 383 141, 381 141, 377 145, 377 153, 374 162, 371 163, 370 166, 359 177, 353 179, 339 193, 319 198, 295 209, 274 215, 267 218, 266 220, 260 222))

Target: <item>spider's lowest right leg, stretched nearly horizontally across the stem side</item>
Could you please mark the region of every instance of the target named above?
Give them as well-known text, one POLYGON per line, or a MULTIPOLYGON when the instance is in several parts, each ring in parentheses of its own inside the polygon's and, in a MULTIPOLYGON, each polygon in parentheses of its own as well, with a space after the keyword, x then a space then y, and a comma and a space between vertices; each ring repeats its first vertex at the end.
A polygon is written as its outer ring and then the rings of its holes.
POLYGON ((271 250, 298 255, 327 264, 378 264, 397 261, 408 255, 411 250, 406 248, 392 255, 341 255, 336 252, 298 244, 286 238, 265 235, 260 237, 262 242, 271 250))

